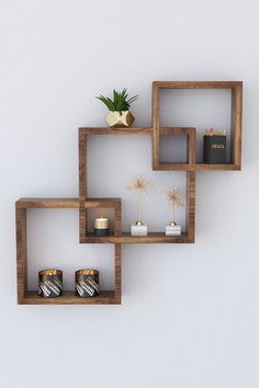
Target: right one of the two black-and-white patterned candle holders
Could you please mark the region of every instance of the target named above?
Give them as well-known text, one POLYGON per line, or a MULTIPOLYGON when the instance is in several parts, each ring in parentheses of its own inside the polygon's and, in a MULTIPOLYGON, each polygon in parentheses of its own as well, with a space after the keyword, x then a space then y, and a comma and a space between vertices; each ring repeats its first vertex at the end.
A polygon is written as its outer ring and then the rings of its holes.
POLYGON ((99 272, 97 270, 78 270, 75 273, 75 292, 81 298, 99 296, 99 272))

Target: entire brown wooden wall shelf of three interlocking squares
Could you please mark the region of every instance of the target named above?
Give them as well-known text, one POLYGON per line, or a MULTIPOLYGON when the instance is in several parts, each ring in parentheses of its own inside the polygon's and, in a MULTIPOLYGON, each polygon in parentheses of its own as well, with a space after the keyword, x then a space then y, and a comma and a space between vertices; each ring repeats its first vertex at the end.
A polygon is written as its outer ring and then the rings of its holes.
POLYGON ((18 303, 22 305, 119 305, 122 295, 123 243, 193 243, 195 237, 195 173, 198 171, 235 171, 241 167, 241 110, 243 82, 239 81, 156 81, 153 83, 153 125, 147 127, 79 128, 79 198, 21 198, 16 202, 16 256, 18 256, 18 303), (232 91, 232 144, 230 162, 225 164, 196 163, 196 129, 194 127, 160 126, 161 89, 230 89, 232 91), (154 171, 184 171, 187 174, 187 232, 169 237, 162 232, 133 237, 122 232, 121 198, 89 198, 87 194, 87 139, 88 136, 137 135, 150 136, 153 141, 154 171), (159 140, 161 136, 187 137, 187 162, 161 162, 159 160, 159 140), (79 209, 80 243, 114 244, 114 290, 103 290, 99 297, 80 298, 72 290, 64 292, 58 298, 40 297, 36 292, 27 290, 27 253, 26 253, 26 210, 30 208, 74 208, 79 209), (112 208, 114 210, 114 233, 95 237, 88 231, 88 210, 91 208, 112 208))

